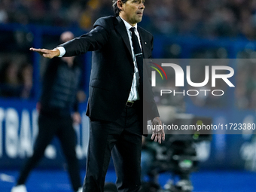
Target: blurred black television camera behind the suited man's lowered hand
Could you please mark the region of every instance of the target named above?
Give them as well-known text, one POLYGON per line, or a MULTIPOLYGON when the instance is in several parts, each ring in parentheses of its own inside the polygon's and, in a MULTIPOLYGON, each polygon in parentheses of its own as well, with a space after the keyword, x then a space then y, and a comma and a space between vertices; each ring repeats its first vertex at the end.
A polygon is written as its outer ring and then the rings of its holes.
MULTIPOLYGON (((172 122, 181 125, 212 124, 210 117, 196 117, 190 114, 177 114, 172 122)), ((190 126, 193 127, 193 126, 190 126)), ((190 181, 190 173, 198 170, 196 143, 211 141, 212 130, 165 130, 166 141, 161 145, 150 142, 145 150, 152 151, 154 162, 148 171, 149 181, 142 184, 141 192, 191 192, 194 187, 190 181), (171 179, 163 189, 157 183, 158 175, 169 172, 171 179)))

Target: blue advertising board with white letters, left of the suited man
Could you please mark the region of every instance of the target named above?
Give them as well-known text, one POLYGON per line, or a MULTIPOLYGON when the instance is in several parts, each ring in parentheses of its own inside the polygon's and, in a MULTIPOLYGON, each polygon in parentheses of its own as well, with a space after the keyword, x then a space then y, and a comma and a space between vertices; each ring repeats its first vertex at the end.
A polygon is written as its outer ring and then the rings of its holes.
MULTIPOLYGON (((0 100, 0 169, 20 168, 33 153, 33 144, 38 134, 38 112, 35 102, 12 99, 0 100)), ((85 166, 89 139, 89 121, 85 114, 86 104, 81 104, 81 125, 75 125, 77 133, 77 156, 85 166)), ((39 167, 62 167, 65 165, 59 142, 53 139, 47 147, 39 167)))

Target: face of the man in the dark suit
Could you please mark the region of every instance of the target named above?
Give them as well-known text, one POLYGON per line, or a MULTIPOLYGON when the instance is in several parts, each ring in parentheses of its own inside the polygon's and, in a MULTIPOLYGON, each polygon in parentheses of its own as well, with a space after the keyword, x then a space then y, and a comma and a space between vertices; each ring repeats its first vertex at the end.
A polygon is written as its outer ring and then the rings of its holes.
POLYGON ((135 26, 136 23, 142 21, 142 15, 145 9, 144 3, 145 0, 128 0, 126 3, 122 3, 120 17, 130 23, 131 26, 135 26))

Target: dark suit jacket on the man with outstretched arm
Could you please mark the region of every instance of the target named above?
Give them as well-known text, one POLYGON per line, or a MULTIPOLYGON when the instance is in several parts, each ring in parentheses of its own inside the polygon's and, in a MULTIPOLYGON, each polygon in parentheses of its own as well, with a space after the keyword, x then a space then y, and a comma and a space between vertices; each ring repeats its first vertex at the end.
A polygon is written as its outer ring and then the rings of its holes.
MULTIPOLYGON (((144 58, 151 58, 153 35, 138 26, 144 58)), ((133 82, 133 56, 126 27, 120 17, 102 17, 93 30, 60 46, 64 56, 93 51, 87 115, 98 120, 114 121, 120 116, 133 82)), ((144 70, 145 71, 145 70, 144 70)), ((145 84, 145 83, 144 83, 145 84)), ((150 106, 147 117, 158 117, 149 81, 145 102, 150 106)))

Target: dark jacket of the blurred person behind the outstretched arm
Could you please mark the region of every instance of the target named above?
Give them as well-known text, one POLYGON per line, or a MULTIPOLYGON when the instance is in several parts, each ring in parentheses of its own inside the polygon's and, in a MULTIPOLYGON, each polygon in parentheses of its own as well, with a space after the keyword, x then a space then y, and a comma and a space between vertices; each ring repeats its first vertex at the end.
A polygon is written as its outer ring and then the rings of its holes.
POLYGON ((70 116, 72 111, 78 111, 77 93, 82 75, 79 61, 75 57, 74 64, 69 66, 61 58, 49 60, 39 101, 42 114, 70 116))

